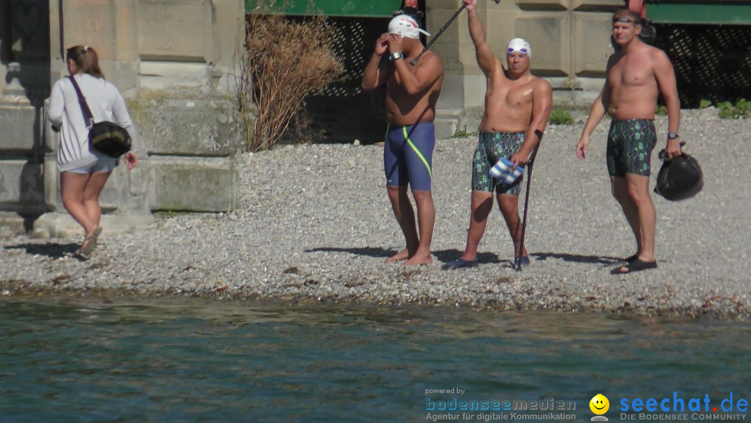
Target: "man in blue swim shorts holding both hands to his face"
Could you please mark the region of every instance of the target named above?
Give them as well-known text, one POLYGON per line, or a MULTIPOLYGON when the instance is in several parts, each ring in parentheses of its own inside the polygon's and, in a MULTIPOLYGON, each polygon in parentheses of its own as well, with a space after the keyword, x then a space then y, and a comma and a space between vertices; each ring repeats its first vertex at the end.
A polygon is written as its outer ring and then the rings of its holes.
POLYGON ((386 189, 391 207, 406 239, 406 248, 386 261, 406 260, 406 265, 430 264, 430 242, 436 209, 433 205, 433 148, 436 145, 436 102, 443 83, 443 62, 423 50, 421 13, 405 8, 388 24, 388 33, 375 41, 375 51, 363 71, 362 88, 372 91, 386 84, 388 134, 384 147, 386 189), (408 186, 418 210, 409 201, 408 186))

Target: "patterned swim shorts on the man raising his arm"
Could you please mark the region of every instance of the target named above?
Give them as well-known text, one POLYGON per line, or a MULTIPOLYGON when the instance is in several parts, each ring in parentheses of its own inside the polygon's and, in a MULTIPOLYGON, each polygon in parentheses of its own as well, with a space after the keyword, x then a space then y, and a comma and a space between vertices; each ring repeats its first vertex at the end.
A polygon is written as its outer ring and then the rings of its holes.
POLYGON ((498 159, 517 153, 524 142, 525 132, 480 132, 480 140, 472 159, 472 190, 496 191, 498 194, 519 195, 523 177, 511 185, 499 182, 490 175, 490 168, 498 159))

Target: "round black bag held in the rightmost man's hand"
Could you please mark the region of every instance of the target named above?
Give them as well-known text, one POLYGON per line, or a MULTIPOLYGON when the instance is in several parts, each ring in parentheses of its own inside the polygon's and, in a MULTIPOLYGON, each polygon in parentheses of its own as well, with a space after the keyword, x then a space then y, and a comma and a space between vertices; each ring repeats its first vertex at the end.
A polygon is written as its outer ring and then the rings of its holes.
MULTIPOLYGON (((662 154, 660 156, 662 158, 662 154)), ((670 201, 678 201, 693 197, 703 186, 704 178, 698 162, 683 153, 662 163, 657 174, 655 192, 670 201)))

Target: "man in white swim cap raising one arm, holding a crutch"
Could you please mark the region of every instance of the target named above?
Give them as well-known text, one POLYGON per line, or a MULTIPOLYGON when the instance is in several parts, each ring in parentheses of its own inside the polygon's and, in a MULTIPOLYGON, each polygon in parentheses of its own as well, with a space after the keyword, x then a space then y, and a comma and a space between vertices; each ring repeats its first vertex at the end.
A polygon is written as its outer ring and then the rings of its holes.
POLYGON ((514 241, 514 265, 529 263, 526 249, 517 256, 521 242, 519 191, 522 178, 508 184, 493 178, 489 171, 501 158, 526 165, 540 142, 553 105, 553 89, 546 80, 529 71, 532 47, 522 38, 508 43, 504 69, 493 56, 477 11, 477 0, 464 0, 469 19, 469 35, 475 43, 477 62, 485 74, 485 112, 480 122, 480 140, 472 160, 472 204, 469 233, 463 255, 445 264, 444 269, 474 267, 477 249, 493 210, 493 192, 514 241))

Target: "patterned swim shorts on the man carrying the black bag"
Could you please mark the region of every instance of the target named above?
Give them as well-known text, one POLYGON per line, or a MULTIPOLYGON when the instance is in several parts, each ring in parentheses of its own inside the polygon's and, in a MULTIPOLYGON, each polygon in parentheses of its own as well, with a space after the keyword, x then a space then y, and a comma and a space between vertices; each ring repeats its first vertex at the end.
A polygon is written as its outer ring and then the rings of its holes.
POLYGON ((652 120, 614 120, 608 131, 608 174, 611 177, 650 176, 650 159, 656 143, 652 120))

